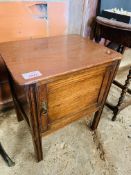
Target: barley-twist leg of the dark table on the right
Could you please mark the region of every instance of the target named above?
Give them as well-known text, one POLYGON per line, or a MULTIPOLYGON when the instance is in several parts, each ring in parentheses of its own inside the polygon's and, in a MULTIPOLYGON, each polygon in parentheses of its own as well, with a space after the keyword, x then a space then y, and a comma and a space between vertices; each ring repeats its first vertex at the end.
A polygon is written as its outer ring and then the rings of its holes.
POLYGON ((128 91, 130 80, 131 80, 131 67, 129 69, 129 74, 127 75, 127 79, 125 81, 125 85, 123 86, 123 89, 122 89, 121 96, 119 98, 118 104, 117 104, 117 106, 113 110, 114 116, 112 118, 112 121, 115 121, 116 118, 117 118, 117 114, 120 111, 120 108, 121 108, 121 106, 122 106, 122 104, 124 102, 124 99, 125 99, 125 95, 126 95, 126 93, 128 91))

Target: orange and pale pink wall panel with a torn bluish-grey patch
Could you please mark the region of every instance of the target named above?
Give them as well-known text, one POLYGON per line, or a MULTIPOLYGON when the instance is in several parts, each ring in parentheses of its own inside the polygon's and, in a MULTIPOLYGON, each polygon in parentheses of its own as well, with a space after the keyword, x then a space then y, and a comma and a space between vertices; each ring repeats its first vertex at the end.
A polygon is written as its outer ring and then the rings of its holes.
POLYGON ((65 34, 67 4, 50 2, 48 20, 39 17, 38 2, 0 3, 0 42, 65 34))

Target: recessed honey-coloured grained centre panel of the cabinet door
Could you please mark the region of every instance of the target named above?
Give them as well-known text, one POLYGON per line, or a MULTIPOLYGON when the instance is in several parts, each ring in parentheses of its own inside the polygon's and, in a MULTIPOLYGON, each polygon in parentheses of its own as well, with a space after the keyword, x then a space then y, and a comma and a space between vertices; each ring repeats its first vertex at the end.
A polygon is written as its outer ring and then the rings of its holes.
POLYGON ((104 73, 105 68, 98 68, 98 70, 94 68, 82 74, 49 83, 49 123, 97 103, 104 73))

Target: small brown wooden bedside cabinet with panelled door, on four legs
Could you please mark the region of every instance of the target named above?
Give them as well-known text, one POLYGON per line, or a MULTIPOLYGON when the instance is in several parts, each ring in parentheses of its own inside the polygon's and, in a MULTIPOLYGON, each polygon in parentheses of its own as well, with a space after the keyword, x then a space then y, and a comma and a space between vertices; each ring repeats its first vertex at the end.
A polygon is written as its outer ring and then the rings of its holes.
POLYGON ((38 161, 42 136, 94 112, 91 128, 97 128, 120 54, 79 35, 3 43, 0 53, 18 120, 29 125, 38 161), (32 71, 42 75, 22 77, 32 71))

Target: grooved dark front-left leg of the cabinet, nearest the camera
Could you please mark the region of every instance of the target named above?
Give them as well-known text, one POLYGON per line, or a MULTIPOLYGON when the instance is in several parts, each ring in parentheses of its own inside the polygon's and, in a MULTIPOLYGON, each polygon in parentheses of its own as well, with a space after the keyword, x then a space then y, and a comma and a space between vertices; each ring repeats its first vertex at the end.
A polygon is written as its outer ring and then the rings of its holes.
POLYGON ((34 150, 36 153, 37 161, 43 160, 42 153, 42 138, 40 132, 40 120, 38 115, 38 104, 37 104, 37 87, 35 84, 29 85, 26 89, 27 99, 30 108, 29 122, 31 127, 32 139, 34 143, 34 150))

